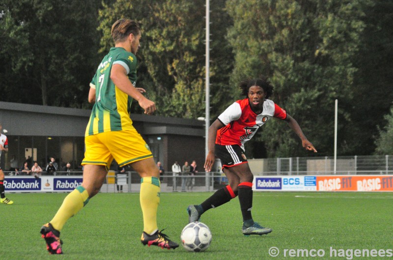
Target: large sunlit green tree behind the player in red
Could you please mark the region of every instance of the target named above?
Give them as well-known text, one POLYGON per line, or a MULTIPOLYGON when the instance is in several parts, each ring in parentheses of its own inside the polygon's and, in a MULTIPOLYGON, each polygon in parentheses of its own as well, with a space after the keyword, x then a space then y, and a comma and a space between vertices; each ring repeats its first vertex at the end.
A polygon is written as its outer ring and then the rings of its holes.
MULTIPOLYGON (((269 76, 275 86, 272 99, 297 119, 318 155, 333 152, 334 99, 352 102, 357 71, 352 61, 365 28, 362 4, 367 2, 228 0, 226 4, 236 17, 228 33, 236 53, 231 82, 269 76)), ((341 109, 339 117, 341 129, 350 113, 341 109)), ((276 123, 266 125, 260 140, 269 157, 309 155, 289 132, 276 123)))

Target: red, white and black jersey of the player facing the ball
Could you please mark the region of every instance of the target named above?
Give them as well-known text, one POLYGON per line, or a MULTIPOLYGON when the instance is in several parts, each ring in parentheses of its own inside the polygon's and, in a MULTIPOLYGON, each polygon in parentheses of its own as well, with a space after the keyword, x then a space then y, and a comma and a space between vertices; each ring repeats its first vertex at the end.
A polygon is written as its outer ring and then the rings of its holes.
POLYGON ((286 118, 286 112, 272 100, 263 102, 259 115, 250 107, 249 99, 237 100, 218 117, 225 125, 217 131, 216 143, 220 145, 239 145, 244 151, 244 143, 249 141, 259 127, 270 118, 286 118))

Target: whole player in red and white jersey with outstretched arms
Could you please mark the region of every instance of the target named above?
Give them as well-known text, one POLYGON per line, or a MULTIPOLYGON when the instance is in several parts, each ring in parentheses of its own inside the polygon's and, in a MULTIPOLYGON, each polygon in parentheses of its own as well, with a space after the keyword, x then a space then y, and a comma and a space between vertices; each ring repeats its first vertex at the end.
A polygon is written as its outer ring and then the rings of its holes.
POLYGON ((272 232, 254 222, 251 215, 253 207, 253 173, 244 155, 244 143, 249 141, 256 131, 270 118, 279 118, 302 140, 307 150, 317 152, 303 134, 297 121, 285 110, 269 98, 273 94, 273 86, 267 78, 250 79, 240 84, 243 95, 247 98, 237 100, 230 105, 209 127, 208 149, 205 161, 206 171, 211 171, 216 156, 221 159, 223 171, 229 185, 217 190, 212 196, 199 205, 187 208, 189 222, 198 221, 200 216, 239 196, 240 209, 243 215, 243 234, 263 235, 272 232))

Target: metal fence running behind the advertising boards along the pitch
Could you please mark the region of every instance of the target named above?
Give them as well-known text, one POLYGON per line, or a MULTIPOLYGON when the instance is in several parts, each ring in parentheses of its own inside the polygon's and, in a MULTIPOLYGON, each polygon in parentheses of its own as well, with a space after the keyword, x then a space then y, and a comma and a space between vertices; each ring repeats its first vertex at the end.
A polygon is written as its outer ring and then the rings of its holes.
MULTIPOLYGON (((393 156, 341 156, 337 157, 334 171, 333 157, 292 157, 249 160, 253 174, 257 175, 372 175, 393 174, 393 156)), ((81 176, 82 171, 56 172, 56 175, 81 176)), ((4 171, 5 175, 15 172, 4 171)), ((49 175, 46 172, 42 176, 49 175)), ((51 174, 53 176, 53 174, 51 174)), ((112 171, 101 192, 139 192, 140 176, 128 171, 122 180, 112 171), (120 184, 121 183, 121 184, 120 184), (119 185, 119 186, 118 186, 119 185), (122 187, 120 187, 120 185, 122 187), (122 190, 120 190, 122 188, 122 190)), ((166 172, 160 177, 162 192, 213 191, 228 184, 222 172, 198 172, 195 176, 166 172)))

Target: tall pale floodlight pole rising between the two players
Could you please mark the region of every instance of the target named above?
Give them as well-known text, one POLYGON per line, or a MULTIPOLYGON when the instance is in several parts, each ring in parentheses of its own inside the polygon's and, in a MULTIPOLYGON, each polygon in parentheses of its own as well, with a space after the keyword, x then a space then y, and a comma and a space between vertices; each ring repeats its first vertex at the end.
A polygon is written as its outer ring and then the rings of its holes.
MULTIPOLYGON (((209 135, 209 126, 210 126, 210 0, 206 0, 206 44, 205 44, 205 52, 206 52, 206 59, 205 59, 205 89, 206 89, 206 96, 205 96, 205 158, 207 153, 209 152, 207 138, 209 135)), ((206 190, 210 189, 209 184, 209 173, 206 172, 206 190)))

